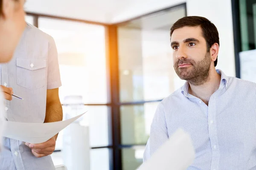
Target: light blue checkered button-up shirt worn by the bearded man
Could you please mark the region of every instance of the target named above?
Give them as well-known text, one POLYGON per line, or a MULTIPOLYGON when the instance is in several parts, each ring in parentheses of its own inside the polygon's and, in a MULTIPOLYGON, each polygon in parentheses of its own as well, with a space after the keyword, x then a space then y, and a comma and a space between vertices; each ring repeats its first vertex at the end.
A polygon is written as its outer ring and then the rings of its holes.
POLYGON ((196 153, 188 170, 256 170, 256 83, 217 72, 209 106, 188 93, 188 82, 159 104, 143 161, 183 128, 196 153))

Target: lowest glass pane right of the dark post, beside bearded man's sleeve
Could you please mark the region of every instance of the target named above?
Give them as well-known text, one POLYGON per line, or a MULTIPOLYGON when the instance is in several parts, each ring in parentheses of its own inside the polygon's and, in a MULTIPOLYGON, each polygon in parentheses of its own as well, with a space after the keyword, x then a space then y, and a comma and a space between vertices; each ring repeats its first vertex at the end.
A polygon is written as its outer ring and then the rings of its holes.
POLYGON ((136 170, 143 163, 145 147, 122 149, 122 169, 136 170))

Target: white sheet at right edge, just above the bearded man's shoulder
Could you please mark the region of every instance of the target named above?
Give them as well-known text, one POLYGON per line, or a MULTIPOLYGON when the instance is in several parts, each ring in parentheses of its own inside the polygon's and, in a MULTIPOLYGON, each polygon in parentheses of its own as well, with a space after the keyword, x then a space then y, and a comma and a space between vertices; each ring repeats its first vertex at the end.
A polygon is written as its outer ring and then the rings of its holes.
POLYGON ((250 82, 256 82, 256 50, 239 53, 240 77, 250 82))

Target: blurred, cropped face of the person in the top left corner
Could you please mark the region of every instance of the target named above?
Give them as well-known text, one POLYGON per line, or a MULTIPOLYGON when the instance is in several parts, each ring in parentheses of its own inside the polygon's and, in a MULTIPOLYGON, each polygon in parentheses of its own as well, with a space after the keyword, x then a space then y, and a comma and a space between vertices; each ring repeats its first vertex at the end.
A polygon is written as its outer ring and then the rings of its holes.
POLYGON ((26 26, 24 0, 3 0, 0 14, 0 62, 12 59, 15 48, 26 26))

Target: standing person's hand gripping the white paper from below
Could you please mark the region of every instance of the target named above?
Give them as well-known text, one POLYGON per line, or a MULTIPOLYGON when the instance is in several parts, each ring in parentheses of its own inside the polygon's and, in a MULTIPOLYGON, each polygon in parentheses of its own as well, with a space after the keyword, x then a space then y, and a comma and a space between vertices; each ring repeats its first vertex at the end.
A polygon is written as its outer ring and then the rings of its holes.
POLYGON ((41 158, 53 153, 55 150, 56 137, 53 136, 47 142, 41 144, 30 144, 27 142, 25 144, 32 150, 32 153, 35 155, 35 157, 41 158))

